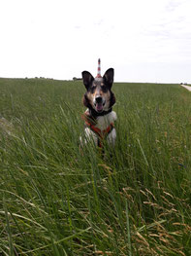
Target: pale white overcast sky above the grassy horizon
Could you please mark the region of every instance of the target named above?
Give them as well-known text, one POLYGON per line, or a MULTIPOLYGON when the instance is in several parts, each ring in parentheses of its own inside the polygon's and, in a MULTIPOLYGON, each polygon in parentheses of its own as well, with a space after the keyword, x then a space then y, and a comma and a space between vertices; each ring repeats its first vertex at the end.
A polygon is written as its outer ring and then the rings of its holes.
POLYGON ((191 0, 0 0, 0 77, 191 83, 191 0))

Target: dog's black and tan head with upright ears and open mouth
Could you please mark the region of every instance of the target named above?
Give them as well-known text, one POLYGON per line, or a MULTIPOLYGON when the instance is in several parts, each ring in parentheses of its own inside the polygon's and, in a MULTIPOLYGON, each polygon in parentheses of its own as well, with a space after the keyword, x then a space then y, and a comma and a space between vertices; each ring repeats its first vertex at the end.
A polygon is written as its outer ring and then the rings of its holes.
POLYGON ((83 84, 86 92, 83 96, 83 104, 97 113, 108 111, 115 103, 115 97, 111 91, 114 70, 110 68, 103 77, 94 78, 88 71, 82 72, 83 84))

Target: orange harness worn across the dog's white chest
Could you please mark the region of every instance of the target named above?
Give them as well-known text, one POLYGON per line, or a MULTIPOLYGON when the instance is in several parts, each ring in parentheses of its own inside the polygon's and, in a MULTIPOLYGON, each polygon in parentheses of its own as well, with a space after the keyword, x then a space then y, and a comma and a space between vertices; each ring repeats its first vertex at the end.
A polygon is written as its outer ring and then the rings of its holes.
POLYGON ((114 124, 111 125, 106 129, 96 128, 92 123, 96 124, 94 120, 89 118, 87 115, 83 114, 82 119, 85 122, 85 126, 90 128, 96 135, 98 135, 98 147, 102 148, 102 140, 111 133, 111 130, 114 128, 114 124))

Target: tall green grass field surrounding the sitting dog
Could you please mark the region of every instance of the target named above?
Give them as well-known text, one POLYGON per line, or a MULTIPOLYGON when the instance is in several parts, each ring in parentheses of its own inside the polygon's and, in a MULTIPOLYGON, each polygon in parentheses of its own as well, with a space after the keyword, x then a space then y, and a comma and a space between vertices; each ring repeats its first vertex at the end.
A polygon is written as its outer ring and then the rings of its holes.
POLYGON ((191 255, 189 91, 115 83, 104 158, 80 151, 80 81, 0 91, 0 255, 191 255))

